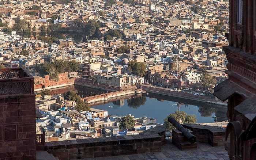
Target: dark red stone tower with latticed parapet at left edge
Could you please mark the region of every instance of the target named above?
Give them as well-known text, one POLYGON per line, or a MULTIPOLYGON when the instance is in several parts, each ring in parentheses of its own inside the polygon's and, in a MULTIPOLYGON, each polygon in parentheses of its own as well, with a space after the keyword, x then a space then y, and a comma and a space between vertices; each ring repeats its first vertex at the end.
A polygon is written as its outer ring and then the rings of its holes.
POLYGON ((33 85, 21 68, 0 69, 0 159, 36 159, 33 85))

